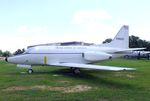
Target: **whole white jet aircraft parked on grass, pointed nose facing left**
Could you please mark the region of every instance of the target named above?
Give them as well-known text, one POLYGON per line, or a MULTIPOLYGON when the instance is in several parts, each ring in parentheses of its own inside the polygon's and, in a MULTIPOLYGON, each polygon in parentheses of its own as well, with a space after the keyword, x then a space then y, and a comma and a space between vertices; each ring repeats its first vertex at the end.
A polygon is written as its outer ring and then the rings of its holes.
POLYGON ((129 27, 124 25, 110 43, 97 46, 35 46, 27 49, 23 54, 8 57, 5 60, 19 66, 28 67, 28 73, 33 72, 33 65, 69 67, 73 73, 79 73, 79 68, 110 71, 135 70, 126 67, 90 64, 120 57, 132 50, 143 49, 129 48, 128 34, 129 27))

